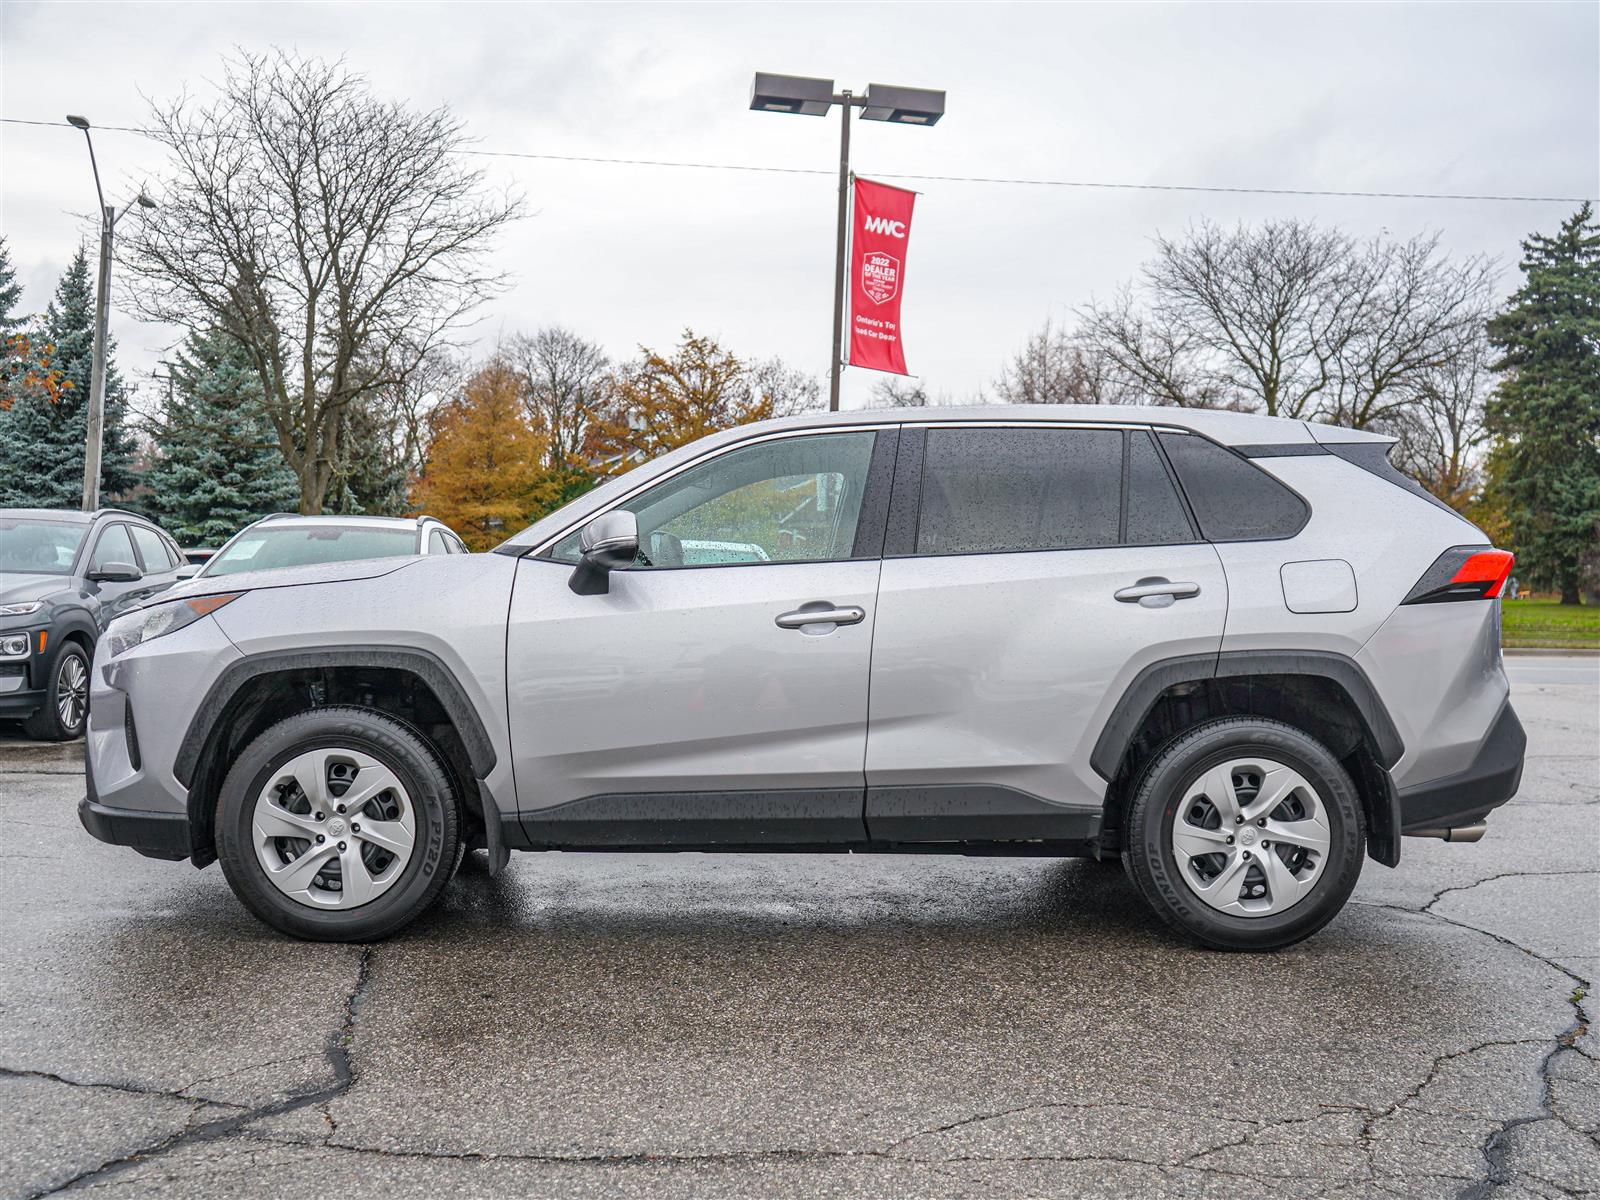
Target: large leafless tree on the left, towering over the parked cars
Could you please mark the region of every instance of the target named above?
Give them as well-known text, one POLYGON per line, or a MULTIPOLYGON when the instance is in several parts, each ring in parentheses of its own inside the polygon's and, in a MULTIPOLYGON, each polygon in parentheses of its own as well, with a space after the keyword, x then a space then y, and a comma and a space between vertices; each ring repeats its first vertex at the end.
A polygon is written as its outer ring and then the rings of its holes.
POLYGON ((152 104, 149 123, 173 173, 123 243, 134 302, 246 349, 301 510, 318 512, 344 410, 402 384, 501 283, 490 242, 518 202, 488 194, 445 109, 282 50, 242 53, 210 104, 152 104))

